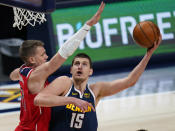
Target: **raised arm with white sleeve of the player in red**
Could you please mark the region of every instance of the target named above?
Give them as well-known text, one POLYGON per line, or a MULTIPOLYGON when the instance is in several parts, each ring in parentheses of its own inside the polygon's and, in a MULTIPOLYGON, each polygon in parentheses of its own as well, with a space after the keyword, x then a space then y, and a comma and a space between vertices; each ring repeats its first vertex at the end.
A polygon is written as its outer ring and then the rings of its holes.
POLYGON ((47 77, 53 72, 55 72, 65 62, 65 60, 74 53, 74 51, 78 48, 82 40, 85 38, 91 26, 93 26, 99 21, 104 6, 105 3, 102 2, 95 15, 92 18, 90 18, 79 31, 77 31, 61 46, 59 51, 51 58, 51 60, 42 64, 41 66, 38 66, 31 73, 28 83, 29 87, 35 90, 35 87, 38 87, 38 84, 40 84, 38 83, 38 81, 44 83, 47 77))

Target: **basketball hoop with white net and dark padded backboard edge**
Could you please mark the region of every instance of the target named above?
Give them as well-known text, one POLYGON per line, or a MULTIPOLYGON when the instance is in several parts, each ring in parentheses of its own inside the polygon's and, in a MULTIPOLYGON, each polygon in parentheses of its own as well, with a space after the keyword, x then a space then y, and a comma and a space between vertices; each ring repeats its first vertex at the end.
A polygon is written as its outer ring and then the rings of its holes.
POLYGON ((14 12, 13 27, 35 26, 46 21, 45 14, 56 9, 56 0, 0 0, 0 4, 10 6, 14 12))

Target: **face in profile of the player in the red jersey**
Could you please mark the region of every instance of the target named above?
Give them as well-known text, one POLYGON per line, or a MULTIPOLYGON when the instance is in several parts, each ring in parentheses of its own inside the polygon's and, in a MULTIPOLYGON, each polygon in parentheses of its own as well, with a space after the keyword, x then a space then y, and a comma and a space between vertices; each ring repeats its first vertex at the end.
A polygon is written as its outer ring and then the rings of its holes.
POLYGON ((47 61, 46 50, 42 46, 38 46, 35 51, 35 55, 32 58, 32 64, 37 67, 47 61))

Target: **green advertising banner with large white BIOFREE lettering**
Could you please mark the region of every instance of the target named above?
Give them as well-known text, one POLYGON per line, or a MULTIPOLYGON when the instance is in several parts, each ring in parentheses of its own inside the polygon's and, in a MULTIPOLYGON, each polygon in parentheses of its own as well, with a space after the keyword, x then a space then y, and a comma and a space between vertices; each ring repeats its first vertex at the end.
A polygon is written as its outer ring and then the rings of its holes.
MULTIPOLYGON (((98 7, 63 8, 51 14, 56 50, 93 16, 98 7)), ((140 21, 152 21, 160 29, 163 42, 154 54, 175 52, 174 0, 133 0, 106 4, 99 23, 92 27, 76 53, 85 52, 94 62, 143 56, 146 49, 132 38, 133 29, 140 21)), ((65 64, 70 64, 70 60, 72 57, 65 64)))

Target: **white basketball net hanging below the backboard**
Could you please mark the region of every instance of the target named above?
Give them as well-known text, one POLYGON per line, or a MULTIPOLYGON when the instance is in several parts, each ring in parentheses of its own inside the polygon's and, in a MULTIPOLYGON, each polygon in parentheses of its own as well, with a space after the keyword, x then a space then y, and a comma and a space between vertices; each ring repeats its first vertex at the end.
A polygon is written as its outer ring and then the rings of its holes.
POLYGON ((13 27, 18 27, 19 30, 23 26, 30 24, 35 26, 36 23, 44 23, 46 21, 45 14, 40 12, 34 12, 22 8, 13 7, 14 12, 14 24, 13 27))

